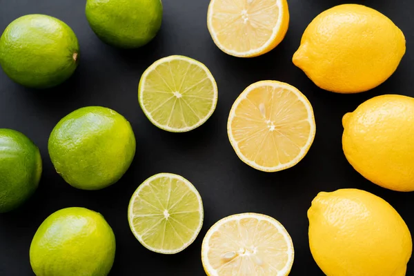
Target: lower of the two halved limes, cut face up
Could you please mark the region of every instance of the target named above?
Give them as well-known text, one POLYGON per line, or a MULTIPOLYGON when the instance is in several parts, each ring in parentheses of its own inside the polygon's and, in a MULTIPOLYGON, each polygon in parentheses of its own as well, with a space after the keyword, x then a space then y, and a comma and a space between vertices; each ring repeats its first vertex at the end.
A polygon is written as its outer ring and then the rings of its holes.
POLYGON ((193 184, 171 173, 146 179, 128 206, 132 233, 143 246, 163 254, 179 253, 190 246, 203 218, 203 202, 193 184))

